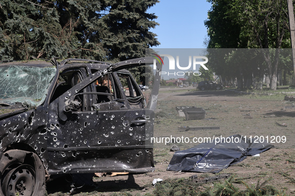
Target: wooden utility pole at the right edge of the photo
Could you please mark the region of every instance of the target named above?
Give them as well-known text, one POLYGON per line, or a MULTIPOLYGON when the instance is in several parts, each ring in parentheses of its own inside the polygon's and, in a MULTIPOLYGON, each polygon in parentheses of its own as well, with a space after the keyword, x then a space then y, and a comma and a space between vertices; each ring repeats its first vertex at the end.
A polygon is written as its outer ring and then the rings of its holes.
MULTIPOLYGON (((287 0, 287 5, 288 5, 288 14, 289 14, 290 33, 291 33, 293 70, 294 70, 294 79, 295 79, 295 19, 294 19, 293 0, 287 0)), ((293 84, 295 85, 295 81, 293 81, 293 84)))

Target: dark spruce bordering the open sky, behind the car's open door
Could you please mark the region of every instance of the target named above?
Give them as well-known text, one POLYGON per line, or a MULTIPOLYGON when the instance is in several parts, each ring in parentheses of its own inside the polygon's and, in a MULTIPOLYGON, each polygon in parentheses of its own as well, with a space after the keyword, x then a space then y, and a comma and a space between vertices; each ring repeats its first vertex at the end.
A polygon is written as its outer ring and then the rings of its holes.
POLYGON ((158 25, 155 14, 146 13, 158 0, 102 0, 107 14, 99 20, 107 59, 126 60, 144 56, 150 46, 159 45, 150 28, 158 25))

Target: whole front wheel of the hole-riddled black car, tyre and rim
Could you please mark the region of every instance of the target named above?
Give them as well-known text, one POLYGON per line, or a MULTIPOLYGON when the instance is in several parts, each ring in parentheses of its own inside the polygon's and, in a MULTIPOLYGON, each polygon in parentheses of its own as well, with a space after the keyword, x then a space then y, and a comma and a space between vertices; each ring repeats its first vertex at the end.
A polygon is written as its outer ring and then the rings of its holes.
POLYGON ((9 150, 0 160, 0 195, 44 196, 45 170, 32 152, 9 150))

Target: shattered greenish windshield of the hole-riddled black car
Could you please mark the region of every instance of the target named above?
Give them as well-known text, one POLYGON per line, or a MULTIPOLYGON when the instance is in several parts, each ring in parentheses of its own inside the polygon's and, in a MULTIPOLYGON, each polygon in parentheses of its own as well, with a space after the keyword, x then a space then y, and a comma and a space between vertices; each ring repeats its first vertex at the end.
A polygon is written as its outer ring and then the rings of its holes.
POLYGON ((55 72, 49 67, 1 66, 0 103, 40 105, 55 72))

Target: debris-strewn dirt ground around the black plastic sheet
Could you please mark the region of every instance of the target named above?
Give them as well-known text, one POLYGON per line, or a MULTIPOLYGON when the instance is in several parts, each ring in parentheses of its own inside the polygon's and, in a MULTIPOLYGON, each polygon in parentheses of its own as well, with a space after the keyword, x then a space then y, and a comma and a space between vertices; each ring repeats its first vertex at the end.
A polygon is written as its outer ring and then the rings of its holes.
MULTIPOLYGON (((239 164, 230 166, 218 174, 166 171, 174 154, 170 152, 173 143, 155 143, 155 171, 146 174, 118 175, 109 174, 93 181, 98 188, 85 190, 77 196, 112 195, 153 195, 154 179, 164 181, 197 175, 198 178, 220 174, 231 174, 249 186, 269 180, 282 195, 295 194, 295 103, 284 100, 283 94, 247 95, 233 90, 196 91, 193 87, 160 89, 154 125, 154 137, 228 137, 241 134, 247 137, 276 138, 275 148, 263 152, 258 157, 248 157, 239 164), (197 106, 206 110, 202 120, 185 120, 179 117, 176 106, 197 106), (178 127, 217 126, 217 130, 180 131, 178 127), (285 136, 285 137, 283 137, 285 136), (283 140, 286 142, 283 143, 283 140), (285 140, 284 140, 285 141, 285 140)), ((177 143, 181 150, 196 146, 198 143, 177 143)), ((47 184, 48 196, 69 195, 65 184, 53 181, 47 184)), ((157 186, 157 185, 156 185, 157 186)), ((214 186, 203 184, 204 188, 214 186)), ((235 184, 240 189, 245 185, 235 184)))

